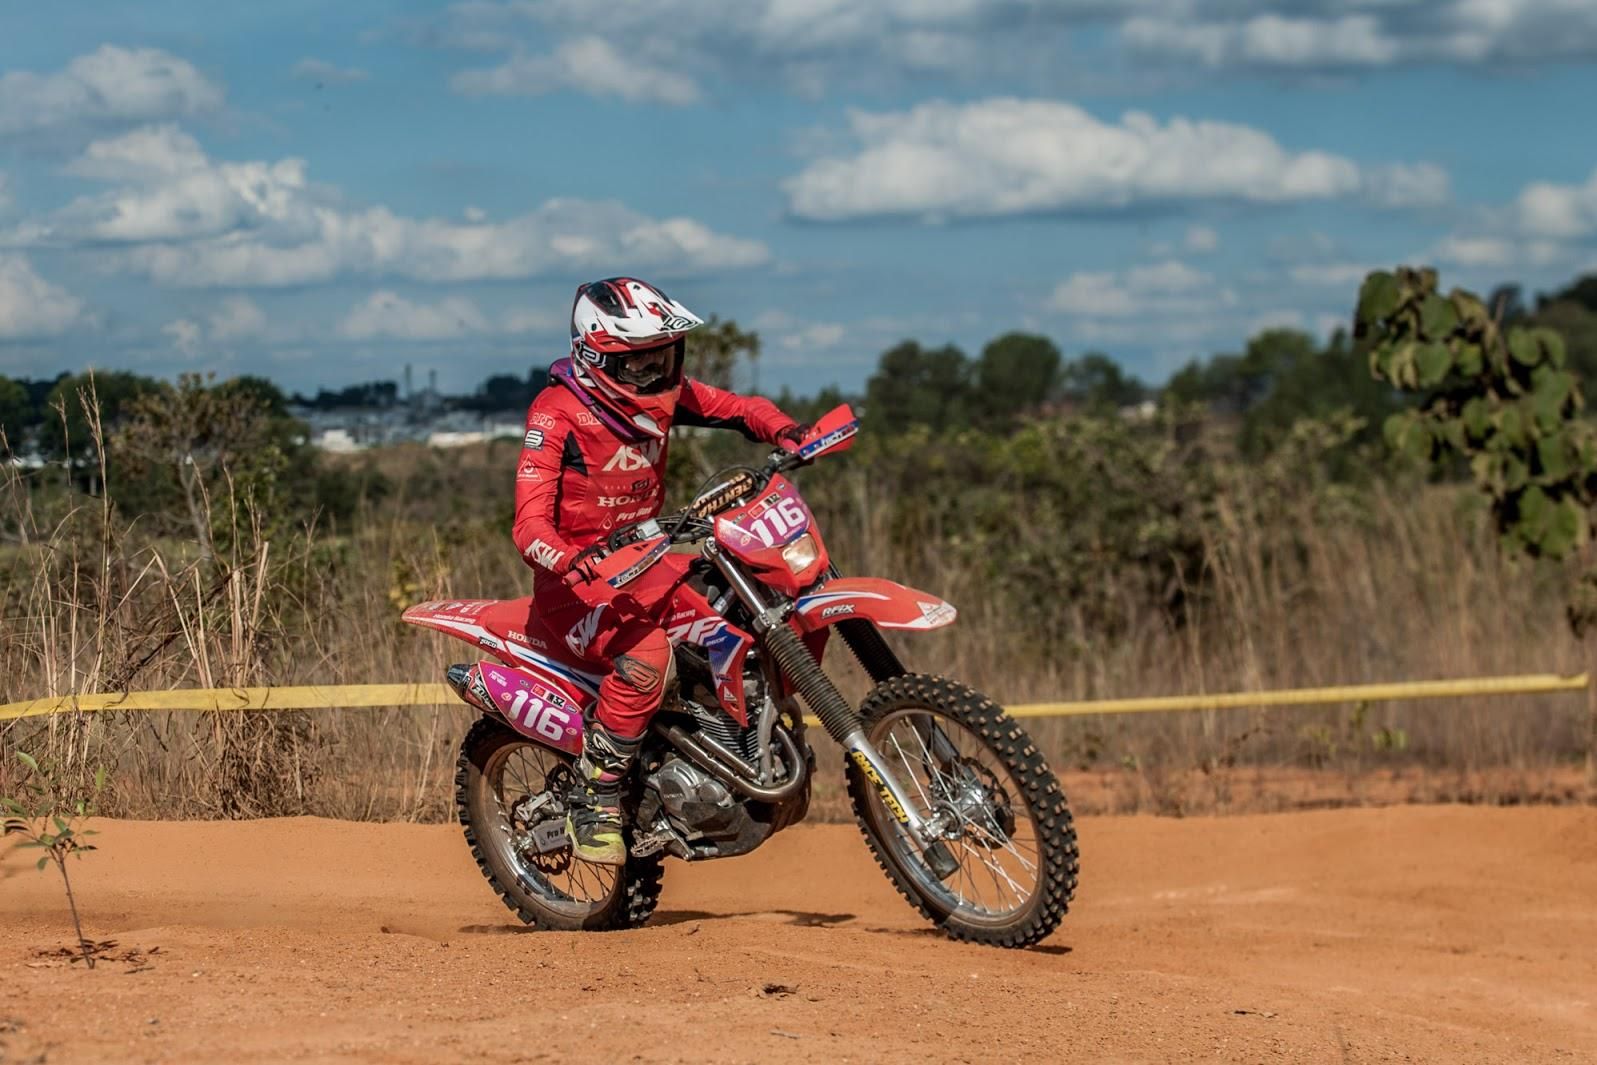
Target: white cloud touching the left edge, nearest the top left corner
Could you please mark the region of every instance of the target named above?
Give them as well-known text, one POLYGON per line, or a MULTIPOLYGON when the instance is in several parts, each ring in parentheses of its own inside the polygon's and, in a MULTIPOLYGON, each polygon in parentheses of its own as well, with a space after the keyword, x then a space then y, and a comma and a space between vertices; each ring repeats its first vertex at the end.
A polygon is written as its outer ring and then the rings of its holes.
POLYGON ((0 77, 0 134, 72 123, 137 123, 222 107, 222 89, 158 48, 102 45, 57 73, 0 77))

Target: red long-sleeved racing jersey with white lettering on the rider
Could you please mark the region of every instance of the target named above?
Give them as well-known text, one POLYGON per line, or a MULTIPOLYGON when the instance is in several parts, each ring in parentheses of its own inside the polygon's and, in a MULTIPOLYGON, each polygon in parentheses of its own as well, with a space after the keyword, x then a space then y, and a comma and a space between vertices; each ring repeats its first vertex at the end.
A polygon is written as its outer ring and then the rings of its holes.
MULTIPOLYGON (((773 445, 794 426, 770 399, 695 380, 682 382, 672 423, 738 430, 773 445)), ((616 525, 660 514, 668 444, 669 436, 623 441, 570 388, 551 382, 527 409, 516 468, 511 535, 527 565, 562 575, 583 548, 616 525)))

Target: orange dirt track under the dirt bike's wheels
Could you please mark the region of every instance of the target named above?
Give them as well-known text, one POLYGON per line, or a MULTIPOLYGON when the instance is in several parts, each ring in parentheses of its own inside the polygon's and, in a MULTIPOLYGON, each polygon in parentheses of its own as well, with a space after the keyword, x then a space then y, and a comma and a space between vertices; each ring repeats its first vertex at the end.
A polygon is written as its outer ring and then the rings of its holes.
POLYGON ((59 880, 6 857, 5 1065, 1597 1062, 1597 810, 1088 819, 1022 953, 928 931, 845 825, 674 862, 605 936, 517 934, 454 827, 101 829, 89 932, 144 961, 45 956, 59 880))

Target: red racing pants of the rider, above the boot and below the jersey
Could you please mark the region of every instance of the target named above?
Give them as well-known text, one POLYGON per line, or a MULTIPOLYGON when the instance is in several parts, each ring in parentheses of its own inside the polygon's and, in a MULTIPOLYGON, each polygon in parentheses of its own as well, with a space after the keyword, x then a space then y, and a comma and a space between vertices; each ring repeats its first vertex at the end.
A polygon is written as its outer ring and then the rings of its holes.
POLYGON ((604 581, 577 588, 540 580, 532 613, 573 664, 604 674, 599 723, 621 738, 642 736, 664 698, 671 672, 671 640, 661 618, 671 591, 693 556, 668 554, 639 580, 616 591, 604 581))

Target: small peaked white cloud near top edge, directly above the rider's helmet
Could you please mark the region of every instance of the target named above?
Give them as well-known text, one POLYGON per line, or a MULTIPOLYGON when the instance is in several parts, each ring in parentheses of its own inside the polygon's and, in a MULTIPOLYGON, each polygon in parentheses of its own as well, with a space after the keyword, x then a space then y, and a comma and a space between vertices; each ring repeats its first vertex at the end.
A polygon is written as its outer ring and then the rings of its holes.
POLYGON ((575 89, 639 102, 687 105, 699 99, 693 78, 645 59, 621 56, 602 37, 573 37, 553 54, 517 53, 497 67, 465 70, 450 85, 468 96, 541 96, 575 89))

